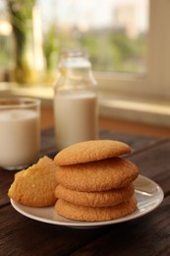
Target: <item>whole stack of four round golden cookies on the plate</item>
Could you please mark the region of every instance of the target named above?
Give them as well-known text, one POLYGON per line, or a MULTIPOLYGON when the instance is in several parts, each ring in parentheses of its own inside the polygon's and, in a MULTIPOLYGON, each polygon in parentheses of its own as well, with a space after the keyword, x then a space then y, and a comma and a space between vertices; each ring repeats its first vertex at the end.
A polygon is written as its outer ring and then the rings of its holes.
POLYGON ((111 140, 87 141, 61 151, 55 196, 56 212, 76 221, 107 221, 124 217, 137 208, 133 181, 138 167, 121 156, 131 148, 111 140))

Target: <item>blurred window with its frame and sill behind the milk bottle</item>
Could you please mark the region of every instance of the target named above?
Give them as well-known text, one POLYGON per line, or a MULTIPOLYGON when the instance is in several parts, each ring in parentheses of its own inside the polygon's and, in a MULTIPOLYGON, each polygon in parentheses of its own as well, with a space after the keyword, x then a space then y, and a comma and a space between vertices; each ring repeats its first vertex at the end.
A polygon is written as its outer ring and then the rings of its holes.
POLYGON ((86 47, 100 113, 170 126, 170 1, 1 0, 0 94, 50 99, 61 50, 86 47))

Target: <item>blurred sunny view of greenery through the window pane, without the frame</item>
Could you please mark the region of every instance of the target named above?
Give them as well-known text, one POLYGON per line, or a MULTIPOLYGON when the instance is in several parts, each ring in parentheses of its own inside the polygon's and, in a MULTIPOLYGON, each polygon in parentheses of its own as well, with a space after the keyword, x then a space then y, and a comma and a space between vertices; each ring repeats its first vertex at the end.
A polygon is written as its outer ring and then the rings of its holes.
POLYGON ((96 71, 144 73, 147 30, 148 0, 1 0, 1 81, 48 84, 61 49, 80 46, 96 71))

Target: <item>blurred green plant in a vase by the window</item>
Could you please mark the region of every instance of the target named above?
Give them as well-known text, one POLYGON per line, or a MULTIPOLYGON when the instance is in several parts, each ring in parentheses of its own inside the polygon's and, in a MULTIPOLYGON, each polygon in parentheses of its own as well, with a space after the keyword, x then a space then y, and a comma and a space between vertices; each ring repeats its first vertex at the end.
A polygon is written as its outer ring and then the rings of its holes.
POLYGON ((39 79, 34 60, 34 4, 35 0, 8 0, 16 47, 14 78, 20 84, 34 84, 39 79))

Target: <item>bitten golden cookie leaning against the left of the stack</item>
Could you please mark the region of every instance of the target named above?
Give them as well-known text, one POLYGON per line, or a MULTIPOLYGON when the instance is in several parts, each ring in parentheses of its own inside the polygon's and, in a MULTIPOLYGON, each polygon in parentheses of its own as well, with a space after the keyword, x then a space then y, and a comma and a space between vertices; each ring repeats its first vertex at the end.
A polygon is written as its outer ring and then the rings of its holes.
POLYGON ((16 173, 8 196, 18 203, 30 207, 54 205, 57 186, 55 172, 57 166, 53 160, 43 157, 37 163, 16 173))

